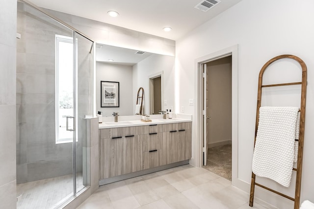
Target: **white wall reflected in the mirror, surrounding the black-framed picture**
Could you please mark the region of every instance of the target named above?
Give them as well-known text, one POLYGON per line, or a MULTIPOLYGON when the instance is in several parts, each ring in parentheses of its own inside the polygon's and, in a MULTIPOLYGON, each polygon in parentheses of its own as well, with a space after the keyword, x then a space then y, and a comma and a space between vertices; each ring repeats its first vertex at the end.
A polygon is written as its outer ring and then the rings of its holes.
POLYGON ((103 116, 112 116, 113 112, 118 112, 119 116, 134 115, 135 109, 133 111, 130 105, 132 95, 132 66, 96 62, 96 111, 102 111, 103 116), (101 81, 120 82, 120 107, 101 107, 101 81))

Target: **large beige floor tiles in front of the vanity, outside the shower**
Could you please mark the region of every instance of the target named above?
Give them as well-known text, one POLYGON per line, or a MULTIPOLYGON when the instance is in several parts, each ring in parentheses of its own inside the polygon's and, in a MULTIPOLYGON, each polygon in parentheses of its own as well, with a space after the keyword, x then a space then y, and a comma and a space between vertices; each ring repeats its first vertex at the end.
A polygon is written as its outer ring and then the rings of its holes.
MULTIPOLYGON (((249 194, 204 168, 183 165, 100 186, 78 209, 252 209, 249 194)), ((276 209, 258 199, 253 209, 276 209)))

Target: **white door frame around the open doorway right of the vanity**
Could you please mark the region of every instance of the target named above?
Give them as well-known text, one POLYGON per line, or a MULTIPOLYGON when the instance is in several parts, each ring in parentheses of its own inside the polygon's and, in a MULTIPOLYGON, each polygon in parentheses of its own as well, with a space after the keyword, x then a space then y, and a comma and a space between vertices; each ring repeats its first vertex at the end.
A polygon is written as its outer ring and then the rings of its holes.
MULTIPOLYGON (((195 69, 197 69, 196 79, 197 88, 197 138, 198 138, 198 166, 203 165, 203 147, 204 147, 204 119, 203 119, 203 98, 204 88, 203 85, 203 65, 210 61, 221 59, 232 55, 232 184, 234 185, 238 174, 238 45, 230 46, 228 48, 216 51, 214 53, 202 56, 195 60, 195 69)), ((206 112, 206 111, 205 111, 206 112)))

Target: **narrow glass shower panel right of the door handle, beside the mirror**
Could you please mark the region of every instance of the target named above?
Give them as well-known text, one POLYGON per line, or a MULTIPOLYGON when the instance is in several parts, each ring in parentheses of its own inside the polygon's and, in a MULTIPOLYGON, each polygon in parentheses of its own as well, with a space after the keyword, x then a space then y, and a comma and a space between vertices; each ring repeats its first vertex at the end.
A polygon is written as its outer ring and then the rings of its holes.
POLYGON ((93 115, 93 42, 75 32, 76 51, 76 192, 90 185, 89 137, 86 136, 86 116, 93 115))

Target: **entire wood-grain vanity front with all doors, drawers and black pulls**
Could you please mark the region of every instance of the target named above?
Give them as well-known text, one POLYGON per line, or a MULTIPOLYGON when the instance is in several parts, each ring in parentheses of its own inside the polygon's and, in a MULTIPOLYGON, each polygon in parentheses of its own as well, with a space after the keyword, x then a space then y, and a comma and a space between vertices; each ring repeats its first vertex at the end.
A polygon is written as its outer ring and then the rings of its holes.
POLYGON ((190 159, 191 133, 191 122, 100 129, 100 180, 190 159))

